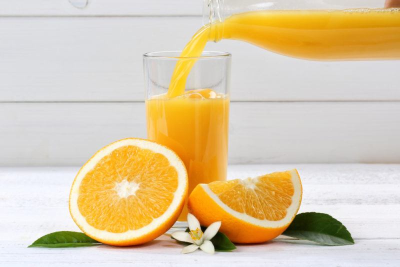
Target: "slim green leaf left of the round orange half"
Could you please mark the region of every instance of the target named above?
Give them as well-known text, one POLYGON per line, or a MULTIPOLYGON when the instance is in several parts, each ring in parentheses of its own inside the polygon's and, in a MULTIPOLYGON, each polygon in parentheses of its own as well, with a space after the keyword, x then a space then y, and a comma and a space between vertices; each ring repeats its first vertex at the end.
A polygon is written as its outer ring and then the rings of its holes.
POLYGON ((82 232, 58 231, 43 235, 28 247, 77 247, 98 244, 101 243, 82 232))

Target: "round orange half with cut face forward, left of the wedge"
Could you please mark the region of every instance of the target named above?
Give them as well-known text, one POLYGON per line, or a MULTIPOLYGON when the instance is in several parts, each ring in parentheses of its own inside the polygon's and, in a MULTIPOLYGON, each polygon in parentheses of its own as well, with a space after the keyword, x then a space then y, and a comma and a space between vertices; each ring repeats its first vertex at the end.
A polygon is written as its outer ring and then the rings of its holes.
POLYGON ((179 216, 187 194, 182 160, 158 143, 126 138, 97 151, 79 170, 69 212, 88 236, 111 245, 152 240, 179 216))

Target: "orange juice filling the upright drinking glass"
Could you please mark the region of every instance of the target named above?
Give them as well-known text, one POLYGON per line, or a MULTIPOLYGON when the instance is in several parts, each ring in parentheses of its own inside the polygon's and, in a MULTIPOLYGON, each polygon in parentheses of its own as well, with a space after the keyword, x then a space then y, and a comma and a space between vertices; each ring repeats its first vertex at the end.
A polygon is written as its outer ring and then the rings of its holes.
MULTIPOLYGON (((198 183, 226 178, 229 99, 210 89, 146 100, 147 137, 183 160, 189 192, 198 183)), ((179 220, 186 220, 184 209, 179 220)))

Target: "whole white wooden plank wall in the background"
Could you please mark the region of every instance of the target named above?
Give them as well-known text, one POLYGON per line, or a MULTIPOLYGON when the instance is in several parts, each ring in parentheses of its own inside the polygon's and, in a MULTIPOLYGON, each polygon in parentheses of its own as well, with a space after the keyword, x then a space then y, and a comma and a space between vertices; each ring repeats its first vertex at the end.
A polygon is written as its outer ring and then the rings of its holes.
MULTIPOLYGON (((141 55, 201 0, 0 0, 0 165, 81 164, 145 136, 141 55)), ((231 40, 230 163, 400 162, 399 61, 313 62, 231 40)))

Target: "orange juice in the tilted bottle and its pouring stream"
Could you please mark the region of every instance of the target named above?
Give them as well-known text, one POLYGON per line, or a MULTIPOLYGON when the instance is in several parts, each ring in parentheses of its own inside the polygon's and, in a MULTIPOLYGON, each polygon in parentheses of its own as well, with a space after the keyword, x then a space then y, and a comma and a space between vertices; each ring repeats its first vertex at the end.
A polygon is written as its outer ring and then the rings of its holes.
MULTIPOLYGON (((262 10, 234 14, 203 26, 181 56, 199 56, 209 40, 242 40, 311 60, 400 59, 400 8, 262 10)), ((177 62, 168 96, 184 92, 195 59, 177 62)))

